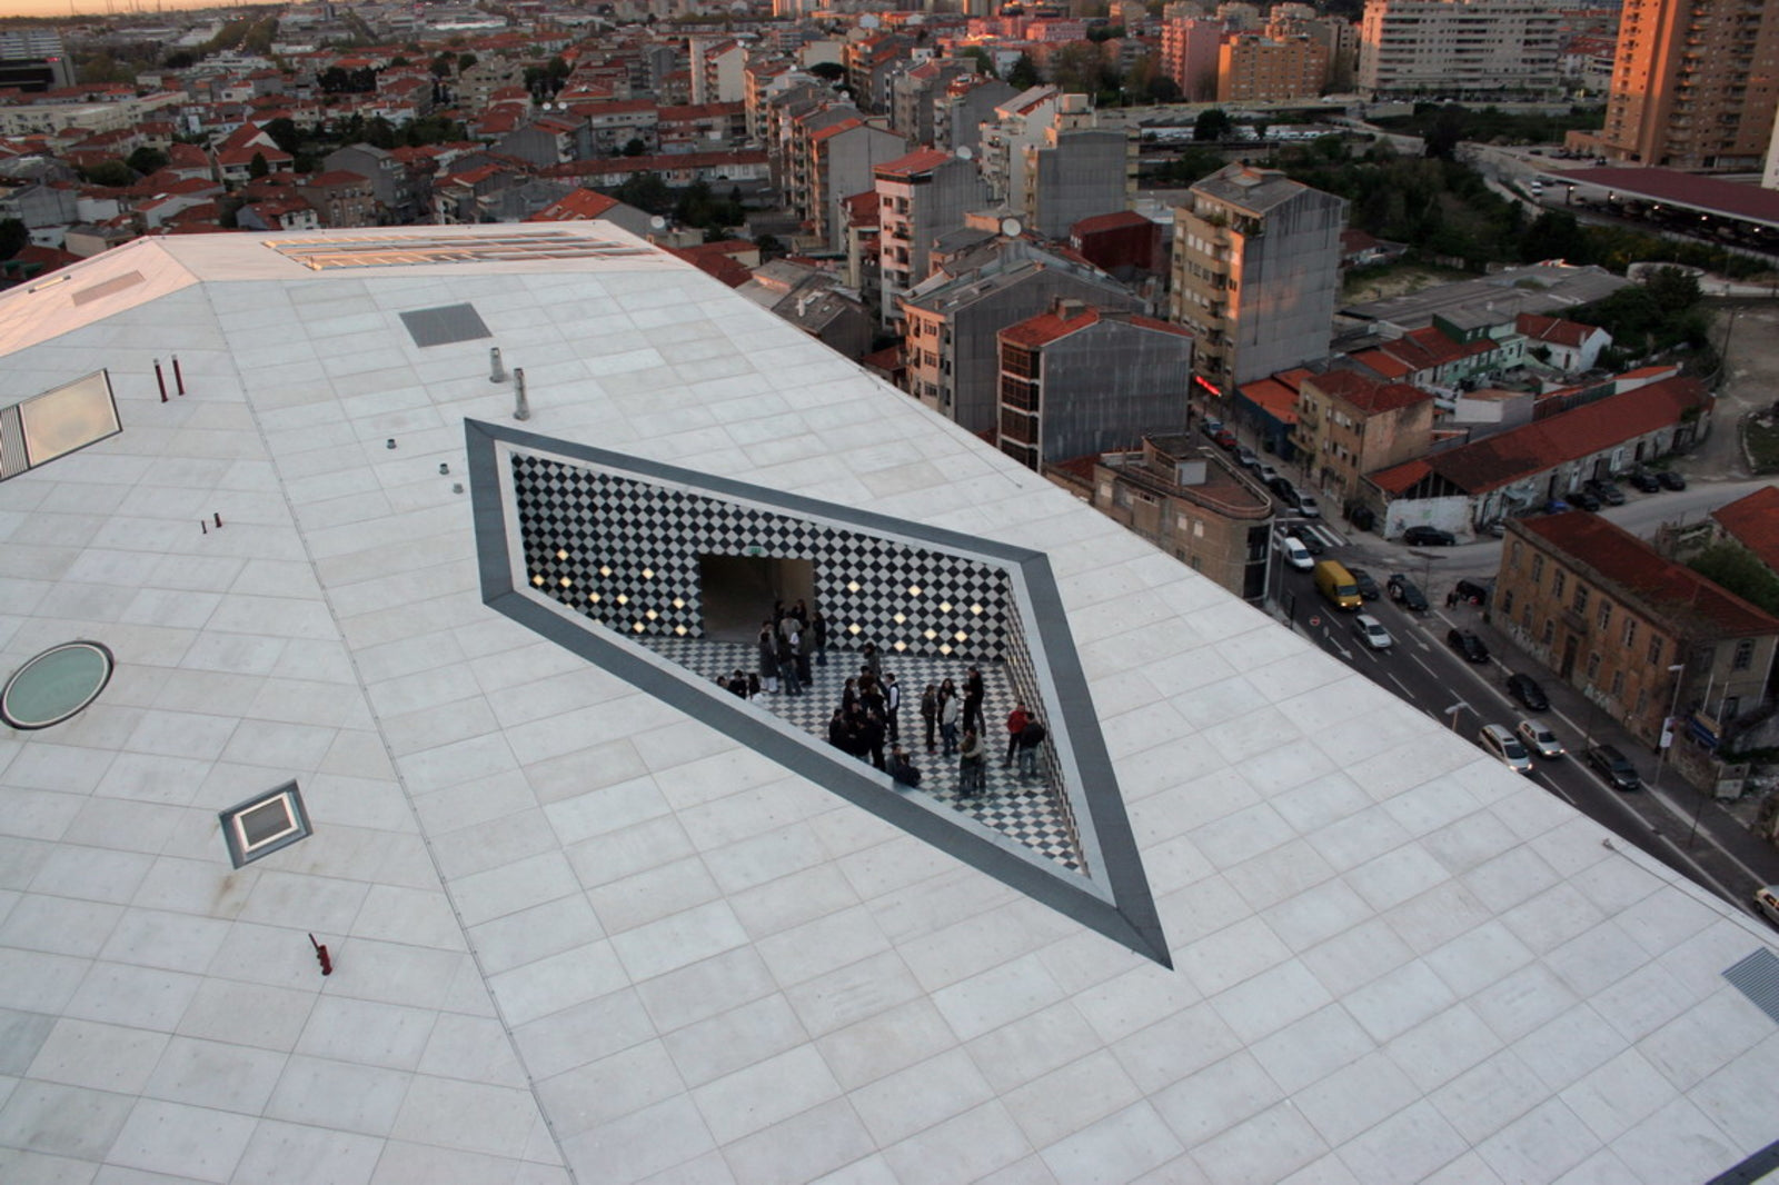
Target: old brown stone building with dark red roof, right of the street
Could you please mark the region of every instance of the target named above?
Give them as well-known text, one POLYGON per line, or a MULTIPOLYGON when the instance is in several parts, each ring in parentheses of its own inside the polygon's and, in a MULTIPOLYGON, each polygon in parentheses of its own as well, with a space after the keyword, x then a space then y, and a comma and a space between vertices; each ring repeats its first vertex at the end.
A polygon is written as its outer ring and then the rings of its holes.
POLYGON ((1516 520, 1494 623, 1640 740, 1715 742, 1767 696, 1779 617, 1589 514, 1516 520))

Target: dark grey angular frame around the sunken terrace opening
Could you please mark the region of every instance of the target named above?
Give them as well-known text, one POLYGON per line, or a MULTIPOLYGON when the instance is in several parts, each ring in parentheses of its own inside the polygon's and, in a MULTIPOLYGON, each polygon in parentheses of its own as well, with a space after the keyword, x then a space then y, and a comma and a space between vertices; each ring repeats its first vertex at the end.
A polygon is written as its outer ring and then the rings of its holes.
POLYGON ((1172 968, 1167 936, 1142 870, 1117 776, 1099 731, 1087 678, 1069 635, 1062 596, 1042 552, 1016 548, 993 539, 897 520, 815 498, 802 498, 763 486, 681 470, 642 457, 616 454, 537 432, 525 432, 482 420, 464 420, 470 496, 477 539, 482 603, 528 630, 557 642, 587 662, 610 671, 633 687, 671 703, 720 733, 756 749, 786 769, 838 794, 879 818, 955 856, 966 865, 1062 913, 1082 925, 1172 968), (719 690, 690 671, 646 651, 623 635, 562 607, 543 603, 532 589, 514 584, 514 553, 509 537, 511 480, 502 473, 502 445, 584 461, 619 470, 642 480, 678 484, 708 496, 753 502, 774 511, 825 520, 863 534, 913 539, 1003 566, 1028 598, 1030 633, 1041 642, 1055 701, 1046 705, 1051 721, 1062 721, 1078 770, 1078 810, 1085 810, 1083 842, 1092 834, 1094 859, 1089 875, 1071 874, 1025 845, 973 820, 932 810, 918 792, 898 788, 884 774, 838 754, 818 738, 719 690))

